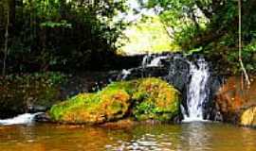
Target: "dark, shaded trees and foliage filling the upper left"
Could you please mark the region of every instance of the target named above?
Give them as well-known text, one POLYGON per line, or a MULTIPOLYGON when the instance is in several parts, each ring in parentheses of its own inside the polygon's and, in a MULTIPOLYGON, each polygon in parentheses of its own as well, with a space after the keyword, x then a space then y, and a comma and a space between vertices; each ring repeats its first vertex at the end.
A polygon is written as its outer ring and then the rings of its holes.
POLYGON ((3 0, 1 64, 8 55, 9 72, 97 68, 116 50, 124 10, 122 0, 3 0))

